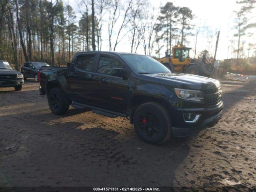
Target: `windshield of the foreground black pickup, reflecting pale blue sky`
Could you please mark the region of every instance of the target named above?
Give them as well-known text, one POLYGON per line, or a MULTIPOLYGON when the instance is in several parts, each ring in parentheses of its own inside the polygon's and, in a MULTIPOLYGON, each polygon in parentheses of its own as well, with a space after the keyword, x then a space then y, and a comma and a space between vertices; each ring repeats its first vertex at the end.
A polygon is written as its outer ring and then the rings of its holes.
POLYGON ((170 72, 157 60, 144 55, 122 54, 122 58, 139 74, 154 74, 170 72))

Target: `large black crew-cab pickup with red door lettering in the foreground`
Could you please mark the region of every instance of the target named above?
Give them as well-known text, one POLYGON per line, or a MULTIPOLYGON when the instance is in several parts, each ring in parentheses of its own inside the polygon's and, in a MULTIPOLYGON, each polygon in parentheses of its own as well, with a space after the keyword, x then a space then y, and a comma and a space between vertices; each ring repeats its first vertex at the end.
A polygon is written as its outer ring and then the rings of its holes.
POLYGON ((69 106, 130 117, 144 141, 158 144, 214 126, 222 114, 220 82, 170 72, 149 56, 80 52, 68 67, 42 67, 41 94, 54 114, 69 106))

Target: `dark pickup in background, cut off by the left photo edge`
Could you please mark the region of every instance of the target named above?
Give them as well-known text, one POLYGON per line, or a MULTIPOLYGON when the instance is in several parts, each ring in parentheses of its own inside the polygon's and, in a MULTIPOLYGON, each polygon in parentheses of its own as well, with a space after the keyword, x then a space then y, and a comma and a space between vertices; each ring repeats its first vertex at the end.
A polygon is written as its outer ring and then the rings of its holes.
POLYGON ((23 84, 23 75, 13 70, 8 62, 0 60, 0 87, 14 87, 16 91, 20 91, 23 84))

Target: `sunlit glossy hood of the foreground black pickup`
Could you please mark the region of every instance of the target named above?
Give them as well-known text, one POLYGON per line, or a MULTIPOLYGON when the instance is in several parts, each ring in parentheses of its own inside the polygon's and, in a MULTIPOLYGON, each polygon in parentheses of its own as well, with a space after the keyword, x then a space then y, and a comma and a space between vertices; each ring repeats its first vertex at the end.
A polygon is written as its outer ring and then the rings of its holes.
POLYGON ((220 86, 220 82, 218 80, 198 75, 190 75, 183 73, 158 73, 147 74, 147 76, 166 80, 166 84, 172 82, 172 84, 176 84, 176 86, 184 89, 205 90, 218 88, 220 86))

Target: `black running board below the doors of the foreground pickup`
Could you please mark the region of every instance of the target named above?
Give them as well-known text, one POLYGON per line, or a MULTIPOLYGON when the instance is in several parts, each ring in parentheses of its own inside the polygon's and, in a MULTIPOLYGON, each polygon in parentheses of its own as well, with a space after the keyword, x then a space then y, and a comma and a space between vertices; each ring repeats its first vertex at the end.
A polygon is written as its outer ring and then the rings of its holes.
POLYGON ((114 112, 114 111, 110 111, 110 110, 106 110, 106 109, 102 109, 102 108, 82 104, 82 103, 75 102, 75 101, 72 101, 71 106, 74 107, 74 108, 78 108, 78 109, 91 108, 93 113, 104 115, 104 116, 107 116, 107 117, 112 117, 112 118, 118 117, 118 116, 127 117, 127 115, 124 114, 124 113, 114 112))

